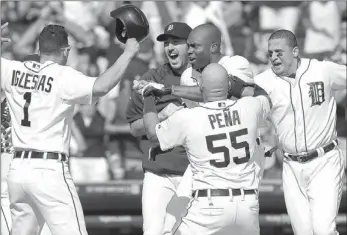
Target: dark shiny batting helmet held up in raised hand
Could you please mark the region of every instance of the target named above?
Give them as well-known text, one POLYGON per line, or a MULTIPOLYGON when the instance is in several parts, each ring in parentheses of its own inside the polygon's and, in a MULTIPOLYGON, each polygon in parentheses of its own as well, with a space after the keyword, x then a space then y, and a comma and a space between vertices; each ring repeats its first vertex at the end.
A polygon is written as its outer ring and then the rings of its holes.
POLYGON ((140 8, 127 4, 113 11, 110 15, 116 20, 116 37, 125 43, 128 38, 136 38, 138 42, 149 33, 149 24, 140 8))

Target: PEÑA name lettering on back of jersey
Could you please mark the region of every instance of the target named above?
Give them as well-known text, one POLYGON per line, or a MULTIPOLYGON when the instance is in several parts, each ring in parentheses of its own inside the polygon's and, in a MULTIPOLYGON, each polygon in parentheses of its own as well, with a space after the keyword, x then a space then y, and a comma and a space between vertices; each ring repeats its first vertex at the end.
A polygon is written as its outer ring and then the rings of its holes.
POLYGON ((223 128, 227 126, 240 125, 240 115, 236 110, 230 112, 230 110, 225 110, 222 113, 215 113, 208 115, 212 129, 215 129, 218 125, 218 128, 223 128))

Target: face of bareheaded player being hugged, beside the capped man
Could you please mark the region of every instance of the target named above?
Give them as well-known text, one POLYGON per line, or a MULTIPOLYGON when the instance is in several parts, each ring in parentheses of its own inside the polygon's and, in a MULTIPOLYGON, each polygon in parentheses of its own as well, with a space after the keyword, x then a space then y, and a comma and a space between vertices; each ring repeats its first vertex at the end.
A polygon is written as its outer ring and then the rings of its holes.
POLYGON ((201 69, 210 63, 211 45, 198 33, 191 33, 187 40, 189 63, 193 69, 201 69))

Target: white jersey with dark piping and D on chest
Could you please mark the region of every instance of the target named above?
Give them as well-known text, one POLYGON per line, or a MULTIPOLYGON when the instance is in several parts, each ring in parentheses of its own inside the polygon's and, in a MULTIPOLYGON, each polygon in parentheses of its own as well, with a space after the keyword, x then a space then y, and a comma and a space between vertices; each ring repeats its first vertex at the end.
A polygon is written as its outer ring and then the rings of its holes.
POLYGON ((336 139, 334 91, 346 89, 345 65, 301 59, 295 79, 272 69, 254 79, 271 98, 271 119, 285 152, 308 152, 336 139))

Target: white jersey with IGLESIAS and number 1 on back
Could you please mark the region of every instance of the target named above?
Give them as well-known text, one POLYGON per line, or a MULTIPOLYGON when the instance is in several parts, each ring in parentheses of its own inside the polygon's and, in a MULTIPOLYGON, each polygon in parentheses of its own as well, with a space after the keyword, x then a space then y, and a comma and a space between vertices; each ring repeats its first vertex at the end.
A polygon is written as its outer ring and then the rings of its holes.
POLYGON ((1 58, 14 149, 68 154, 75 104, 92 104, 95 80, 52 61, 1 58))

